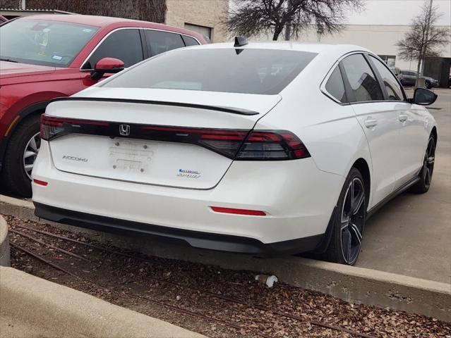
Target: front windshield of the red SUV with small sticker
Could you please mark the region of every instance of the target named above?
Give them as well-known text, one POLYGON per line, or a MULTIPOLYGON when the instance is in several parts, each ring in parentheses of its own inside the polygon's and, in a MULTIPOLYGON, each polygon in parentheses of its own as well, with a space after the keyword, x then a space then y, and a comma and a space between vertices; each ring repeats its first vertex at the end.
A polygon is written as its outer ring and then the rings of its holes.
POLYGON ((13 20, 0 27, 0 59, 67 67, 97 29, 52 20, 13 20))

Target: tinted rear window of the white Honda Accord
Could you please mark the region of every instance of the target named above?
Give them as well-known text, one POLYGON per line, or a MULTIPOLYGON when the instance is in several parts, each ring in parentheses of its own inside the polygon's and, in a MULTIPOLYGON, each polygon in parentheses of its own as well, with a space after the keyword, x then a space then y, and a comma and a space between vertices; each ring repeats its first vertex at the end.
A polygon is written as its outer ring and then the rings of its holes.
POLYGON ((102 87, 278 94, 316 55, 277 49, 181 49, 151 58, 102 87))

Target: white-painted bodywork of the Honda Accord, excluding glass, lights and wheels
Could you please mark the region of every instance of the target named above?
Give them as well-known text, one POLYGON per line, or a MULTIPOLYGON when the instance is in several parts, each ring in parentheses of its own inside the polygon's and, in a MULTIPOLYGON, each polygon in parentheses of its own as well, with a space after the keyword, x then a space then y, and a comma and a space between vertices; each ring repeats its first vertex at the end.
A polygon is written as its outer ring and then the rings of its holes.
MULTIPOLYGON (((231 44, 196 46, 198 50, 231 48, 231 44)), ((344 180, 359 159, 368 164, 370 172, 368 210, 418 174, 428 135, 435 126, 426 108, 402 101, 339 104, 323 91, 337 60, 370 51, 359 46, 287 42, 242 48, 311 51, 318 56, 277 95, 102 87, 121 73, 75 95, 229 106, 259 115, 88 101, 57 101, 49 104, 46 115, 182 127, 289 130, 306 145, 311 157, 233 161, 192 144, 66 135, 42 141, 32 176, 48 185, 32 184, 33 201, 68 211, 272 244, 324 234, 344 180), (399 115, 407 115, 407 120, 400 121, 399 115), (368 120, 377 124, 368 127, 368 120), (122 141, 131 142, 131 148, 148 145, 152 156, 143 154, 150 158, 143 173, 130 165, 121 172, 111 169, 111 149, 114 142, 122 141), (62 161, 65 154, 88 157, 94 164, 88 167, 62 161), (202 174, 196 180, 180 180, 178 168, 202 174), (266 216, 215 213, 211 206, 264 211, 266 216)), ((224 248, 217 244, 217 249, 224 248)))

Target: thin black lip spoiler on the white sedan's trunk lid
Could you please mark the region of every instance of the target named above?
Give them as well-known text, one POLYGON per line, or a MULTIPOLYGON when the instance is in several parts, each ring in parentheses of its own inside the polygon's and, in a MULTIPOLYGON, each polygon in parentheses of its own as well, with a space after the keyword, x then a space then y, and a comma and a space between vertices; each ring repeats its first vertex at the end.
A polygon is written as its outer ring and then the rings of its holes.
POLYGON ((183 102, 169 102, 169 101, 150 101, 150 100, 135 100, 135 99, 109 99, 102 97, 57 97, 50 102, 56 101, 95 101, 95 102, 125 102, 130 104, 156 104, 160 106, 176 106, 176 107, 188 107, 188 108, 199 108, 208 109, 210 111, 222 111, 224 113, 232 113, 238 115, 258 115, 257 111, 248 111, 247 109, 234 108, 234 107, 224 107, 224 106, 208 106, 205 104, 186 104, 183 102))

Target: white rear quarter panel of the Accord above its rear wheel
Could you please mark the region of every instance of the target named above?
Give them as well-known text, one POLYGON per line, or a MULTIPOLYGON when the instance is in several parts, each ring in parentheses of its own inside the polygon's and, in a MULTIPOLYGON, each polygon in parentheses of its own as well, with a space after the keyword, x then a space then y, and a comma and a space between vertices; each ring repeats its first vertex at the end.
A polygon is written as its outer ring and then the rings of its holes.
MULTIPOLYGON (((320 83, 329 70, 322 68, 323 73, 318 73, 315 67, 306 68, 282 91, 282 101, 258 121, 255 129, 294 132, 319 170, 347 177, 354 162, 363 158, 371 173, 368 142, 354 110, 349 105, 337 104, 320 91, 320 83)), ((331 193, 338 198, 339 190, 331 193)))

